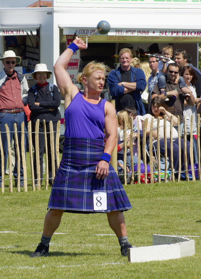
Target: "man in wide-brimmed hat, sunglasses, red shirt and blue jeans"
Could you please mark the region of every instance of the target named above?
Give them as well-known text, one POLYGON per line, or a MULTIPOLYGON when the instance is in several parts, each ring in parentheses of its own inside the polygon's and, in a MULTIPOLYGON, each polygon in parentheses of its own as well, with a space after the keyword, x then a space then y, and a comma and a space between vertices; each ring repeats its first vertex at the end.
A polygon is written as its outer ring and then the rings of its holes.
MULTIPOLYGON (((0 72, 0 130, 4 153, 4 170, 6 171, 8 144, 7 135, 4 133, 5 124, 7 123, 10 131, 10 139, 14 139, 14 123, 17 125, 17 131, 21 132, 21 124, 24 122, 24 144, 25 154, 27 145, 27 117, 24 113, 24 105, 27 105, 28 84, 25 76, 15 71, 15 65, 20 64, 21 57, 16 56, 14 51, 5 51, 2 60, 4 69, 0 72)), ((20 148, 20 186, 24 186, 22 152, 21 152, 21 136, 18 133, 18 143, 20 148)), ((1 157, 0 157, 1 162, 1 157)), ((13 170, 15 185, 17 185, 17 156, 15 152, 15 166, 13 170)), ((2 185, 2 169, 0 168, 0 187, 2 185)))

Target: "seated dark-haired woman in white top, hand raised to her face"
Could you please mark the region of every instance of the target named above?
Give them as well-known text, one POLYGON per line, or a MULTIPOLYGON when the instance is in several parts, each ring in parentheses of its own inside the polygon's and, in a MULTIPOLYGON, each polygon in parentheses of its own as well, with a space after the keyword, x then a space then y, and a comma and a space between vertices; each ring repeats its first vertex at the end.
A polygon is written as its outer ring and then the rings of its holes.
MULTIPOLYGON (((167 116, 167 128, 166 128, 166 135, 167 135, 167 153, 170 162, 170 119, 173 116, 173 125, 176 126, 178 124, 178 119, 176 116, 168 112, 167 106, 164 101, 156 96, 151 100, 151 106, 149 110, 149 114, 145 114, 142 117, 142 128, 144 127, 144 121, 148 118, 147 128, 146 128, 146 135, 148 136, 150 133, 150 123, 151 118, 154 117, 153 123, 153 145, 157 148, 157 118, 160 117, 159 123, 159 141, 160 141, 160 152, 164 154, 164 115, 167 116)), ((181 139, 181 153, 184 150, 184 141, 181 139)), ((190 142, 187 141, 187 164, 189 165, 190 161, 190 142)), ((179 147, 178 147, 178 132, 173 127, 173 168, 175 172, 178 172, 179 169, 179 147)), ((185 170, 184 166, 184 159, 181 160, 181 170, 185 170)))

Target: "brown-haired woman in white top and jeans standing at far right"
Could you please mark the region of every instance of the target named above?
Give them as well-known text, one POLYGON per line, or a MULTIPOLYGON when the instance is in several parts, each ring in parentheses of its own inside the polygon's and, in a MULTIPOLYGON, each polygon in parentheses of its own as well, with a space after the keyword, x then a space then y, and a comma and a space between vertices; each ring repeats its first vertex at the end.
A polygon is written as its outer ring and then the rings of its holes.
MULTIPOLYGON (((187 139, 190 141, 190 121, 191 121, 191 115, 193 115, 193 148, 194 148, 194 163, 198 164, 198 149, 197 149, 197 142, 195 135, 197 134, 197 110, 196 110, 196 104, 200 103, 200 98, 197 98, 196 91, 195 91, 195 82, 198 80, 196 77, 195 71, 191 66, 184 66, 181 70, 181 76, 184 78, 184 81, 186 82, 186 86, 182 88, 181 90, 183 93, 193 94, 195 98, 195 104, 194 106, 190 106, 187 104, 186 100, 184 101, 184 110, 183 114, 186 115, 186 135, 187 139)), ((184 134, 184 129, 183 129, 184 134)))

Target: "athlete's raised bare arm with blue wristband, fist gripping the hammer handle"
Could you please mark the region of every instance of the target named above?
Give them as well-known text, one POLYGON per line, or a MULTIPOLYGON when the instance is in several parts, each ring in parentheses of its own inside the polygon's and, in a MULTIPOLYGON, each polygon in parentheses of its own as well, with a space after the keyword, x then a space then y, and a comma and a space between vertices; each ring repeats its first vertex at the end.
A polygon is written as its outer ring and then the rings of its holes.
POLYGON ((65 98, 64 109, 68 107, 74 96, 79 89, 72 83, 69 73, 66 71, 68 63, 71 60, 72 55, 78 49, 85 49, 86 44, 80 38, 75 39, 73 43, 59 56, 55 65, 54 73, 56 77, 57 86, 62 96, 65 98))

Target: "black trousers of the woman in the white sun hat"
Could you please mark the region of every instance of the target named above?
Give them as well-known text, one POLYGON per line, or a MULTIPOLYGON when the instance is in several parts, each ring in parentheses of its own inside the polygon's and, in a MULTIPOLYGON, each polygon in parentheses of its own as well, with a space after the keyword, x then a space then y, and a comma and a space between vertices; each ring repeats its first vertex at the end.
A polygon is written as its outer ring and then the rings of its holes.
MULTIPOLYGON (((53 124, 53 131, 54 131, 54 148, 55 148, 55 174, 58 170, 57 167, 57 160, 56 160, 56 131, 57 131, 57 122, 52 122, 53 124)), ((32 143, 34 148, 34 158, 33 158, 33 169, 34 169, 34 179, 37 183, 37 167, 36 167, 36 142, 35 142, 35 129, 36 123, 32 122, 32 143)), ((46 135, 47 135, 47 154, 48 156, 48 176, 49 176, 49 183, 52 184, 54 177, 52 177, 52 157, 51 157, 51 146, 50 146, 50 123, 46 122, 46 135)), ((39 123, 39 157, 40 157, 40 172, 41 172, 41 184, 43 179, 43 154, 45 150, 45 135, 44 135, 44 128, 43 122, 39 123)), ((31 149, 31 148, 30 148, 31 149)), ((31 152, 31 150, 29 150, 31 152)))

